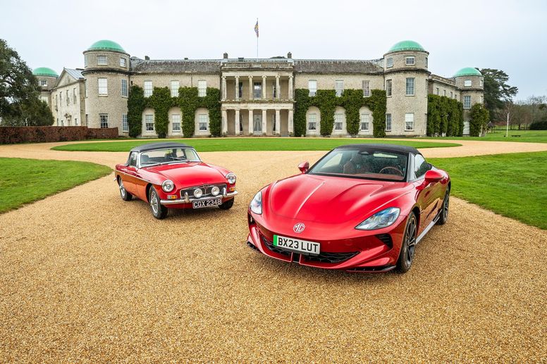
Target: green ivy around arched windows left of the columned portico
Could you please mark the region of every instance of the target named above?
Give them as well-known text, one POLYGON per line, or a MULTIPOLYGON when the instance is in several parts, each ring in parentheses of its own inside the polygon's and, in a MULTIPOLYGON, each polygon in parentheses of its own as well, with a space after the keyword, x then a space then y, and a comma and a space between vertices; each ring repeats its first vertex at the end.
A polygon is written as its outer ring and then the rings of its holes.
POLYGON ((182 129, 185 137, 192 137, 195 132, 195 112, 197 108, 209 111, 209 130, 211 136, 221 135, 221 102, 220 90, 207 87, 207 96, 197 96, 197 87, 180 87, 178 97, 171 97, 168 87, 154 87, 152 96, 145 98, 142 87, 132 86, 128 97, 128 124, 130 137, 142 134, 142 112, 153 108, 155 114, 154 128, 158 137, 165 138, 168 132, 168 112, 179 106, 182 112, 182 129))

